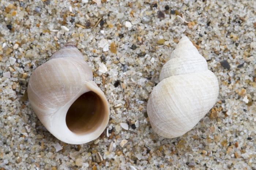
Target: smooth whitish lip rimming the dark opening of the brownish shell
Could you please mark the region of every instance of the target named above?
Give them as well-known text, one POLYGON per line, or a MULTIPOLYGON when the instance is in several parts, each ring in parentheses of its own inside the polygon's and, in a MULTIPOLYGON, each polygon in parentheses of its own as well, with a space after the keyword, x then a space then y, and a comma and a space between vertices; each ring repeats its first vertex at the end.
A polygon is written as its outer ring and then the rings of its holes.
POLYGON ((108 100, 105 94, 101 91, 101 89, 98 88, 95 82, 87 81, 84 83, 79 93, 74 98, 72 98, 67 104, 63 105, 63 107, 61 107, 53 115, 53 117, 50 120, 50 127, 48 130, 57 139, 63 142, 66 142, 69 144, 83 144, 83 143, 90 142, 94 139, 97 139, 102 134, 102 132, 105 130, 106 126, 108 125, 109 116, 110 116, 109 105, 108 105, 108 100), (101 98, 103 103, 102 107, 105 108, 104 117, 98 127, 94 128, 93 130, 90 130, 86 134, 76 134, 71 130, 69 130, 69 128, 67 127, 67 124, 66 124, 67 111, 79 96, 89 91, 95 92, 96 94, 99 95, 99 98, 101 98))

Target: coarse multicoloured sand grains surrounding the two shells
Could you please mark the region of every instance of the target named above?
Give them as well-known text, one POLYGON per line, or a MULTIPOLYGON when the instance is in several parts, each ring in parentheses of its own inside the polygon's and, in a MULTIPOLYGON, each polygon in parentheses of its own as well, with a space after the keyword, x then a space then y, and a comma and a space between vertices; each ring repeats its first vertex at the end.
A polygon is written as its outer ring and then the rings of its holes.
POLYGON ((1 170, 255 170, 256 1, 96 2, 0 0, 1 170), (217 76, 219 97, 191 131, 166 139, 152 130, 147 101, 184 35, 217 76), (31 73, 71 39, 111 108, 112 135, 82 145, 51 135, 26 96, 31 73))

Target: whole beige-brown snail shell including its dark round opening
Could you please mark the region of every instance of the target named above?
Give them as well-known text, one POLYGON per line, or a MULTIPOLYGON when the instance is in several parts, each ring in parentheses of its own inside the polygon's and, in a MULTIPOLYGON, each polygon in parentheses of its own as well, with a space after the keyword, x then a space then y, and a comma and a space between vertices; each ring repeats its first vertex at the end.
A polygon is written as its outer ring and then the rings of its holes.
POLYGON ((104 93, 74 43, 67 43, 30 76, 30 104, 59 140, 82 144, 98 138, 109 121, 104 93))

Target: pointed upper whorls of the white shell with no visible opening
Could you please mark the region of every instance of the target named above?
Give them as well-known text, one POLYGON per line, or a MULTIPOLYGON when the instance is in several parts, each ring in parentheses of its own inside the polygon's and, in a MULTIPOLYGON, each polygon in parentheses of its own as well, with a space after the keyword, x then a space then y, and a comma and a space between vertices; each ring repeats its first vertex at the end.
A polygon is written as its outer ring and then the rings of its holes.
POLYGON ((170 76, 204 72, 206 70, 208 70, 206 59, 199 54, 188 37, 183 36, 175 50, 173 50, 170 60, 163 66, 159 81, 170 76))

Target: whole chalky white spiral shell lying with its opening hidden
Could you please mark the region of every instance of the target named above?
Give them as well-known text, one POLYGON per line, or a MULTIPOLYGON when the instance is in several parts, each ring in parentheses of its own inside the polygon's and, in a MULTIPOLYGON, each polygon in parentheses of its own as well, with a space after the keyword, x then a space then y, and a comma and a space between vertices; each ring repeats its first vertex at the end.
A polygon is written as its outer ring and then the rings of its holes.
POLYGON ((147 113, 153 130, 165 138, 184 135, 217 101, 218 80, 187 36, 163 66, 159 81, 151 92, 147 113))

